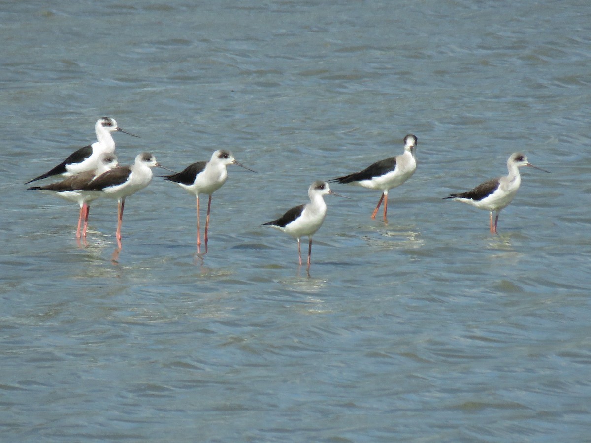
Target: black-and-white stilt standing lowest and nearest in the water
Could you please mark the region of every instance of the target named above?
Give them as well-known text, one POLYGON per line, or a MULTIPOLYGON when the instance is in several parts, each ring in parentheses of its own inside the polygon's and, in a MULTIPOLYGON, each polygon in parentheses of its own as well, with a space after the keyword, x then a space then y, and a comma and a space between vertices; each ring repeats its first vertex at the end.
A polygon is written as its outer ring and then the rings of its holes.
POLYGON ((263 223, 261 226, 272 226, 275 229, 281 230, 297 239, 297 252, 300 258, 301 266, 301 237, 307 236, 308 243, 308 266, 310 269, 311 255, 312 255, 312 236, 320 229, 324 218, 326 217, 326 203, 324 203, 324 196, 332 195, 337 197, 344 197, 330 190, 330 186, 326 181, 316 180, 308 189, 308 197, 310 203, 300 204, 288 210, 285 214, 272 222, 263 223))

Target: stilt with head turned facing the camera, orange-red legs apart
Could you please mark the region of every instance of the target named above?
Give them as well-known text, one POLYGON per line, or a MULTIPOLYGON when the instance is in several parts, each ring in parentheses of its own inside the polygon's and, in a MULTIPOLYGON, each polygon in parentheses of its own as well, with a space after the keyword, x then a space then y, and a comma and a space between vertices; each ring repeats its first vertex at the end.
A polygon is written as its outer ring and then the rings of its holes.
POLYGON ((388 223, 388 191, 407 181, 417 169, 415 147, 417 138, 413 134, 404 137, 404 152, 395 157, 386 158, 369 165, 362 171, 329 180, 337 183, 351 183, 364 188, 382 191, 378 206, 375 207, 371 218, 375 219, 379 206, 384 201, 384 223, 388 223))

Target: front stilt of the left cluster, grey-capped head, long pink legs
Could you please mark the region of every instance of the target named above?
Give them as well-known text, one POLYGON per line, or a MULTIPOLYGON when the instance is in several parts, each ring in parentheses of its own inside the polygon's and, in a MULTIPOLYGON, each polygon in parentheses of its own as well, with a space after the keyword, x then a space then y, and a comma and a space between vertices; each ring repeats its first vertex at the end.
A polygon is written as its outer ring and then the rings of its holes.
MULTIPOLYGON (((117 231, 115 233, 118 244, 121 243, 121 223, 125 198, 144 189, 152 181, 153 167, 162 168, 150 152, 142 152, 135 157, 135 163, 106 171, 77 190, 113 198, 117 200, 117 231)), ((75 190, 75 189, 72 189, 75 190)))

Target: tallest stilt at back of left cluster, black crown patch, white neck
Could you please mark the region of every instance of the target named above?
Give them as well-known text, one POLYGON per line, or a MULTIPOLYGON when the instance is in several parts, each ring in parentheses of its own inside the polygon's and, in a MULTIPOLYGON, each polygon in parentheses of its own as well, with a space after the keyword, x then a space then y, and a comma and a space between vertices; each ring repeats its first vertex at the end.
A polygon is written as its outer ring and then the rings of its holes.
POLYGON ((115 141, 113 140, 113 132, 123 132, 133 137, 138 137, 132 133, 126 132, 119 128, 117 122, 111 117, 102 117, 96 120, 95 132, 97 141, 92 145, 84 146, 77 151, 72 152, 63 162, 56 167, 27 181, 25 184, 33 181, 42 180, 43 178, 52 177, 53 175, 61 175, 62 177, 69 177, 78 172, 96 170, 96 164, 99 155, 102 152, 115 152, 115 141))

